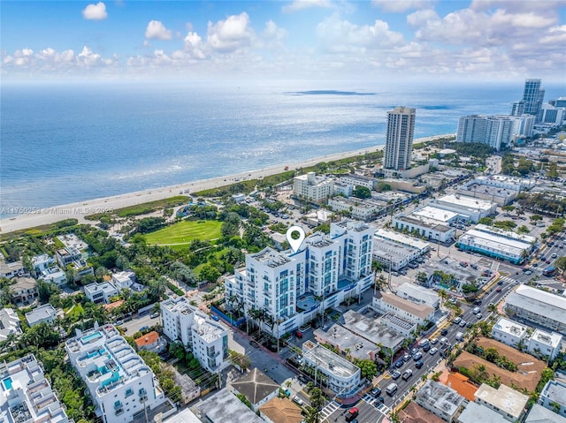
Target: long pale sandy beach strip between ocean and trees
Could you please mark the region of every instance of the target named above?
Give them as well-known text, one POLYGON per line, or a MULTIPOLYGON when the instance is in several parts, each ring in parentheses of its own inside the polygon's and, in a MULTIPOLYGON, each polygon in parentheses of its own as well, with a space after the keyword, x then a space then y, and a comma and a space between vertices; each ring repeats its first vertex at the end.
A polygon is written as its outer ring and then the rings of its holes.
MULTIPOLYGON (((424 137, 414 140, 413 142, 419 143, 424 141, 438 140, 453 135, 454 134, 433 135, 431 137, 424 137)), ((383 150, 384 148, 385 145, 380 145, 344 153, 336 153, 333 155, 322 155, 304 160, 302 162, 290 163, 288 164, 288 166, 289 170, 296 170, 298 168, 315 165, 318 162, 332 162, 333 160, 351 157, 354 155, 363 155, 367 152, 379 151, 383 150)), ((0 234, 10 233, 15 230, 25 230, 73 218, 77 219, 79 223, 92 223, 92 221, 85 219, 86 215, 93 215, 95 213, 107 213, 119 208, 135 206, 149 201, 164 200, 176 195, 192 194, 211 188, 216 188, 222 185, 230 185, 236 182, 234 181, 234 179, 237 178, 246 180, 271 176, 285 171, 285 166, 286 164, 280 164, 278 166, 272 166, 270 168, 264 168, 261 170, 249 170, 233 175, 202 179, 194 182, 187 182, 184 184, 137 191, 134 193, 124 193, 113 195, 111 197, 77 201, 74 203, 61 206, 53 206, 49 208, 22 208, 22 214, 0 220, 0 234)))

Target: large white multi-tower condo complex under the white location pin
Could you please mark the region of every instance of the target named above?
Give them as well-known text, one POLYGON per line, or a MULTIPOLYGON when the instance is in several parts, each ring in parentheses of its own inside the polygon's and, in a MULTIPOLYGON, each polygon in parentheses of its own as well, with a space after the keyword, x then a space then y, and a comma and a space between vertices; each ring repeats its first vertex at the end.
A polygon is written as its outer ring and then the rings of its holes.
POLYGON ((264 310, 273 323, 266 329, 281 336, 312 320, 320 306, 338 305, 371 287, 373 232, 345 220, 332 223, 328 236, 306 238, 297 253, 267 247, 247 254, 246 267, 226 278, 226 299, 237 298, 248 317, 264 310))

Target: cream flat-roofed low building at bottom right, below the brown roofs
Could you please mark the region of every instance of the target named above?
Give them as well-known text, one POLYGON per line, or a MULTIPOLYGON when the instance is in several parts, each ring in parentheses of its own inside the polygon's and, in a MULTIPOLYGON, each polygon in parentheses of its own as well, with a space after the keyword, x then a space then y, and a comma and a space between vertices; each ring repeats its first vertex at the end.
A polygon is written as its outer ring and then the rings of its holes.
POLYGON ((527 401, 529 401, 528 396, 507 385, 501 384, 495 389, 483 383, 476 391, 475 402, 498 412, 503 419, 516 422, 523 419, 527 401))

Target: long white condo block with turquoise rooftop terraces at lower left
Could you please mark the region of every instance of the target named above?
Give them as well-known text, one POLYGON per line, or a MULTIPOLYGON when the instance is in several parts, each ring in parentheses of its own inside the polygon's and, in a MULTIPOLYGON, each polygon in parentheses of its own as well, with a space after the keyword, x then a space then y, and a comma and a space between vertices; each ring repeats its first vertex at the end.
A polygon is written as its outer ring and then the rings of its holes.
POLYGON ((157 378, 114 326, 96 323, 84 333, 77 329, 65 350, 104 423, 129 422, 146 407, 164 403, 157 378))

